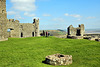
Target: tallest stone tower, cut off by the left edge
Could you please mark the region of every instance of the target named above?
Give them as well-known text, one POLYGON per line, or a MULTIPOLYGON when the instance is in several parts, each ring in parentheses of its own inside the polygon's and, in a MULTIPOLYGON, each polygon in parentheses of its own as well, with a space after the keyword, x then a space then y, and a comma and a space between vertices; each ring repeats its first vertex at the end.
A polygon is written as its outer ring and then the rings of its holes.
POLYGON ((6 0, 0 0, 0 40, 7 39, 6 0))

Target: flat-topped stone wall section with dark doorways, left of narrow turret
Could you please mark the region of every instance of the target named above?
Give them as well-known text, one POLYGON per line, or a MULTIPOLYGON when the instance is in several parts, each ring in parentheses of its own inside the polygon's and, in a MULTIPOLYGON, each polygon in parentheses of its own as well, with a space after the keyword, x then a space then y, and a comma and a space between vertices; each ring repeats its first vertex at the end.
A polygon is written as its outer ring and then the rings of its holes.
POLYGON ((34 24, 31 23, 20 23, 20 36, 21 37, 34 37, 35 28, 34 24))

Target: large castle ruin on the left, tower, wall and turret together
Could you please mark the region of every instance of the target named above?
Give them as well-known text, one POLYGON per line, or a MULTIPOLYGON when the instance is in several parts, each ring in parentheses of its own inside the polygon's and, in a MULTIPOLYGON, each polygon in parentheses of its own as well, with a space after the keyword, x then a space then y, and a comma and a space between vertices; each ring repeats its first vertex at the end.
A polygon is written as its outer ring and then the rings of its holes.
POLYGON ((6 0, 0 0, 0 41, 7 40, 9 37, 36 36, 39 36, 39 19, 34 19, 33 23, 19 23, 18 20, 7 19, 6 0))

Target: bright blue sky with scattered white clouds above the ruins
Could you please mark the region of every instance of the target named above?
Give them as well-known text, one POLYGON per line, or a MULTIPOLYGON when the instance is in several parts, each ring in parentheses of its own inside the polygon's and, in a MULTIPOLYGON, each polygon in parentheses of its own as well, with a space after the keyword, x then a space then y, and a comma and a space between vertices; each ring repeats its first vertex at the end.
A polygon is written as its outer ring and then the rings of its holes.
POLYGON ((69 25, 100 29, 100 0, 6 0, 8 19, 33 23, 40 30, 67 29, 69 25))

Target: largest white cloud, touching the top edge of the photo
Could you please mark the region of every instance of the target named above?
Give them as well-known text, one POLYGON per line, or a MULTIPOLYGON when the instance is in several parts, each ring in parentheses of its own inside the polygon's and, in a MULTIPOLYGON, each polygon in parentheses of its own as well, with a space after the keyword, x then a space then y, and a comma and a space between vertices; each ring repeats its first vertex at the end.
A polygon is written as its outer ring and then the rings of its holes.
POLYGON ((35 0, 11 0, 13 8, 19 11, 36 10, 35 0))

